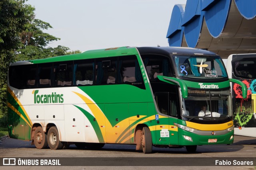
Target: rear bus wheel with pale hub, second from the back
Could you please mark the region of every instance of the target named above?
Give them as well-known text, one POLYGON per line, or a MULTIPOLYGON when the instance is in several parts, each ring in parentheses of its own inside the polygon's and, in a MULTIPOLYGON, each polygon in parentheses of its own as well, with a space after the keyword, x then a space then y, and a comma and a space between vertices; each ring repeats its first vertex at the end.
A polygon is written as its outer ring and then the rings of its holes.
POLYGON ((47 135, 47 141, 50 149, 62 149, 63 142, 60 141, 58 129, 56 126, 50 127, 47 135))

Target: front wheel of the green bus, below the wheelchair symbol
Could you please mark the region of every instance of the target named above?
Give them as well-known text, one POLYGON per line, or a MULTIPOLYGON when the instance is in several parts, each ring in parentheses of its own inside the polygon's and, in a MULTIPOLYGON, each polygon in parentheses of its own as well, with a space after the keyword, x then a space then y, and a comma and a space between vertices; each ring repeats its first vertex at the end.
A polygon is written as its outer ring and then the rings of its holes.
POLYGON ((142 129, 142 137, 141 137, 141 142, 142 142, 142 150, 145 154, 151 153, 152 152, 152 137, 150 130, 148 127, 143 127, 142 129))

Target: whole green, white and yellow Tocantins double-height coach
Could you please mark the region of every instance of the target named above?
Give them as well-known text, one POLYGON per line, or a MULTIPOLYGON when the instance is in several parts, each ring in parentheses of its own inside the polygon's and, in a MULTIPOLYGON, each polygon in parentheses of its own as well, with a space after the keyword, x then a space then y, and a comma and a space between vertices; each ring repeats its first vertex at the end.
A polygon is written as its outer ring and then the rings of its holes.
POLYGON ((8 131, 38 149, 231 144, 230 82, 222 59, 182 47, 118 47, 18 61, 8 70, 8 131), (201 107, 207 111, 202 112, 201 107), (204 115, 202 115, 204 114, 204 115))

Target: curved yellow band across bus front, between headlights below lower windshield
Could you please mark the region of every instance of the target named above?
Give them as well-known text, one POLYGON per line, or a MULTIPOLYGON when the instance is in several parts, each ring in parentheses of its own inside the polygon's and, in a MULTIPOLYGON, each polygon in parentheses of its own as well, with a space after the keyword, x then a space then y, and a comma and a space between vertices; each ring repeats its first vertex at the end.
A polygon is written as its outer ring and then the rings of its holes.
POLYGON ((199 124, 199 123, 193 123, 190 121, 186 121, 187 127, 192 127, 194 129, 198 129, 201 131, 221 131, 228 129, 229 127, 233 126, 233 121, 229 121, 222 124, 199 124))

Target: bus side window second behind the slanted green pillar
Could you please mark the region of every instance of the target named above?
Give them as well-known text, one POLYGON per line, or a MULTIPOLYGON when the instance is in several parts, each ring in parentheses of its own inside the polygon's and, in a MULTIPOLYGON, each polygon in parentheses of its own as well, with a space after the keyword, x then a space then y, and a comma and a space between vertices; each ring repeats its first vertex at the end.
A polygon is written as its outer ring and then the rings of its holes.
POLYGON ((116 84, 117 57, 96 60, 95 84, 116 84))

